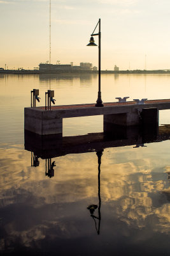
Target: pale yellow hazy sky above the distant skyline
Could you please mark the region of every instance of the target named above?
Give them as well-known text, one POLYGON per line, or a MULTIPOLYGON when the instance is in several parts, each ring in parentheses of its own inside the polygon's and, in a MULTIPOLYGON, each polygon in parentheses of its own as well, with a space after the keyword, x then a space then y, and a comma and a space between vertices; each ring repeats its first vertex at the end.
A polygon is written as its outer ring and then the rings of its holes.
MULTIPOLYGON (((49 6, 50 0, 0 0, 0 67, 49 61, 49 6)), ((170 69, 169 0, 51 0, 51 63, 98 66, 98 47, 86 45, 99 18, 102 70, 170 69)))

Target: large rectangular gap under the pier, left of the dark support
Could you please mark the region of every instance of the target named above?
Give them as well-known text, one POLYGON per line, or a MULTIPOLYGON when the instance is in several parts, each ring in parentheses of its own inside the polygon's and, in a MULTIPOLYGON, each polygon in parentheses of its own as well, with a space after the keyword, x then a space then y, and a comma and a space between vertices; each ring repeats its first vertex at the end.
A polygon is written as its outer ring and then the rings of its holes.
POLYGON ((63 118, 62 136, 78 136, 103 132, 103 115, 63 118))

